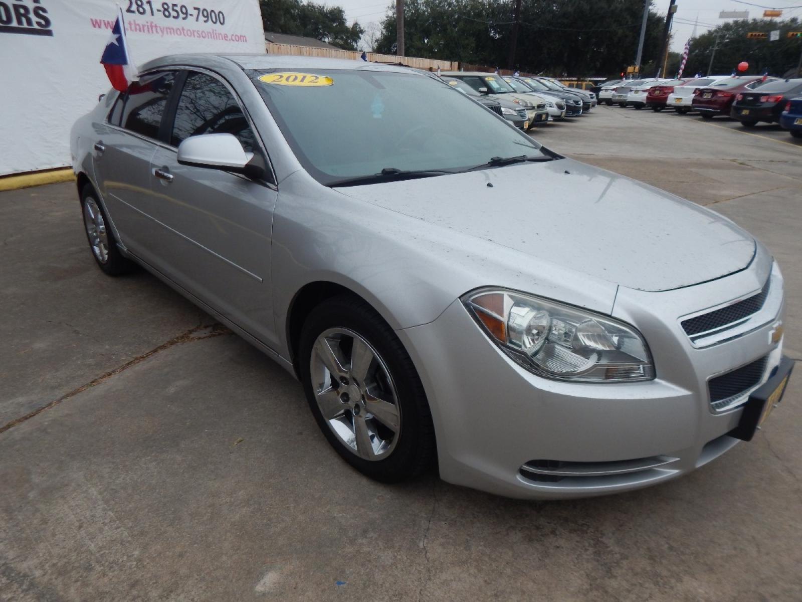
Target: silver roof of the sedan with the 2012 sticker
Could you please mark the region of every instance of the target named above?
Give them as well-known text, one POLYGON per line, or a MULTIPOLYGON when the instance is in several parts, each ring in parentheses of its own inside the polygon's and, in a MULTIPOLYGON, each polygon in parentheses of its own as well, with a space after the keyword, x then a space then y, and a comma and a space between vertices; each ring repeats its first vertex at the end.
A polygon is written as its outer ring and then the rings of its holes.
POLYGON ((156 67, 189 65, 194 67, 220 67, 241 69, 334 69, 360 71, 387 71, 395 73, 415 73, 424 75, 410 67, 368 63, 363 60, 324 59, 317 56, 262 55, 262 54, 210 54, 196 53, 185 55, 166 55, 145 63, 143 71, 156 67))

